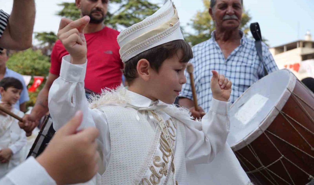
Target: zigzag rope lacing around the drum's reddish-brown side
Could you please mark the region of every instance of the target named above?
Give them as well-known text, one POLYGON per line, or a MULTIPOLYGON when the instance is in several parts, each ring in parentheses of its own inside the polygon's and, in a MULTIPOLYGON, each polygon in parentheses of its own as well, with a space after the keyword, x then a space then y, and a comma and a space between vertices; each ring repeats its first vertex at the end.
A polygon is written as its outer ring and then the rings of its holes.
MULTIPOLYGON (((289 90, 289 89, 288 89, 288 90, 289 90)), ((289 91, 290 91, 290 90, 289 90, 289 91)), ((297 100, 299 106, 300 106, 300 107, 302 108, 302 110, 306 113, 306 116, 308 116, 308 117, 310 118, 310 120, 312 121, 312 123, 313 123, 313 122, 314 122, 314 121, 313 121, 313 118, 312 118, 312 117, 309 115, 309 113, 305 110, 305 108, 304 108, 303 105, 299 102, 299 100, 301 100, 303 103, 305 103, 305 104, 306 104, 308 107, 310 107, 312 110, 314 110, 314 108, 311 107, 308 103, 306 103, 302 98, 300 98, 300 96, 296 95, 295 93, 293 93, 293 92, 291 92, 291 91, 290 91, 290 93, 294 96, 294 98, 297 100), (299 99, 299 100, 298 100, 298 99, 299 99)), ((304 128, 306 131, 310 132, 312 135, 314 135, 314 133, 311 132, 308 128, 306 128, 306 127, 303 126, 302 124, 300 124, 298 121, 296 121, 295 119, 293 119, 291 116, 289 116, 288 114, 286 114, 285 112, 279 110, 277 107, 275 107, 275 108, 276 108, 276 109, 279 111, 279 113, 284 117, 284 119, 285 119, 286 121, 288 121, 288 123, 295 129, 295 131, 300 135, 300 137, 311 147, 311 150, 313 151, 314 149, 313 149, 313 147, 311 146, 311 144, 301 135, 301 133, 295 128, 295 126, 293 126, 293 124, 288 120, 288 118, 290 118, 290 119, 291 119, 292 121, 294 121, 296 124, 298 124, 299 126, 301 126, 302 128, 304 128), (288 118, 287 118, 287 117, 288 117, 288 118)), ((262 130, 260 127, 259 127, 259 129, 262 130)), ((298 147, 292 145, 292 144, 289 143, 288 141, 285 141, 284 139, 282 139, 281 137, 277 136, 276 134, 274 134, 274 133, 272 133, 272 132, 270 132, 270 131, 268 131, 268 130, 265 130, 265 131, 266 131, 267 133, 269 133, 269 134, 271 134, 271 135, 277 137, 278 139, 284 141, 285 143, 289 144, 290 146, 296 148, 297 150, 299 150, 299 151, 305 153, 306 155, 310 156, 311 158, 314 158, 314 157, 311 156, 310 154, 308 154, 308 153, 306 153, 305 151, 301 150, 300 148, 298 148, 298 147)), ((246 173, 247 173, 247 174, 252 174, 252 175, 255 177, 254 173, 259 172, 259 173, 261 173, 270 183, 274 184, 273 182, 275 182, 276 184, 279 185, 279 183, 273 178, 273 176, 270 175, 270 173, 272 173, 273 175, 275 175, 276 177, 280 178, 282 181, 284 181, 284 182, 286 182, 287 184, 290 185, 291 183, 287 182, 287 181, 284 180, 282 177, 280 177, 278 174, 276 174, 276 173, 272 172, 270 169, 268 169, 270 166, 272 166, 272 165, 275 164, 276 162, 280 161, 281 164, 283 165, 285 171, 287 172, 287 174, 288 174, 288 176, 289 176, 289 178, 290 178, 292 184, 295 185, 295 183, 293 182, 293 179, 292 179, 290 173, 288 172, 287 168, 285 167, 285 165, 284 165, 284 163, 283 163, 283 159, 286 159, 288 162, 290 162, 290 163, 293 164, 295 167, 297 167, 297 168, 300 169, 302 172, 304 172, 307 176, 309 176, 309 180, 311 180, 311 179, 313 180, 314 177, 313 177, 312 175, 310 175, 310 174, 308 174, 307 172, 305 172, 302 168, 300 168, 300 167, 299 167, 298 165, 296 165, 294 162, 292 162, 291 160, 289 160, 287 157, 285 157, 285 156, 279 151, 279 149, 277 148, 277 146, 271 141, 271 139, 267 136, 267 134, 265 133, 265 131, 263 131, 263 134, 265 134, 265 136, 268 138, 268 140, 269 140, 269 141, 272 143, 272 145, 276 148, 276 150, 279 152, 279 154, 281 155, 281 157, 279 157, 276 161, 272 162, 271 164, 269 164, 269 165, 267 165, 267 166, 264 166, 264 165, 263 165, 263 162, 259 159, 259 157, 257 156, 257 153, 254 151, 254 149, 253 149, 253 147, 251 146, 251 144, 248 144, 247 147, 249 148, 249 150, 250 150, 250 152, 253 154, 253 156, 257 159, 257 161, 260 163, 261 167, 258 167, 258 168, 255 167, 249 160, 247 160, 247 159, 246 159, 244 156, 242 156, 239 152, 235 152, 236 155, 240 155, 243 159, 246 160, 246 162, 248 162, 250 165, 252 165, 252 167, 255 168, 255 170, 247 171, 246 173), (273 181, 272 181, 271 179, 269 179, 268 177, 266 177, 266 175, 262 172, 263 170, 265 170, 265 171, 268 173, 268 175, 272 178, 273 181), (270 173, 269 173, 269 172, 270 172, 270 173)), ((244 142, 246 142, 246 141, 244 141, 244 142)), ((244 166, 245 166, 247 169, 249 169, 249 168, 246 166, 246 164, 242 161, 242 159, 241 159, 240 157, 237 157, 237 158, 241 161, 242 164, 244 164, 244 166)), ((256 178, 256 177, 255 177, 255 178, 256 178)), ((256 179, 257 179, 257 181, 259 182, 258 178, 256 178, 256 179)), ((260 182, 259 182, 259 183, 260 183, 260 182)))

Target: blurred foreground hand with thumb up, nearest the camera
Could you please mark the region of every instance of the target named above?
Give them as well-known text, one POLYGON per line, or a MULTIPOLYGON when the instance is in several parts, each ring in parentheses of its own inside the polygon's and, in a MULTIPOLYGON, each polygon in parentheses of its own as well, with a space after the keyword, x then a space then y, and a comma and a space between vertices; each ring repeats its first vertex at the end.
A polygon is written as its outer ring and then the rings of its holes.
POLYGON ((86 182, 98 170, 99 153, 95 139, 96 128, 77 131, 83 114, 78 111, 66 125, 60 128, 37 161, 46 169, 57 184, 86 182))

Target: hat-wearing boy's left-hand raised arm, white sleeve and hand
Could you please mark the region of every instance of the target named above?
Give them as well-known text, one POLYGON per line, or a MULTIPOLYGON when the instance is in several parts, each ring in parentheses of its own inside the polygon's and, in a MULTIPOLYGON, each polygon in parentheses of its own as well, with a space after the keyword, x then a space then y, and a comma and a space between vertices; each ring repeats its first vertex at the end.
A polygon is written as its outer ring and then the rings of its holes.
POLYGON ((48 95, 48 106, 56 130, 77 110, 83 111, 85 124, 93 123, 88 120, 91 116, 84 92, 87 65, 84 28, 88 23, 89 17, 85 16, 76 21, 62 18, 59 25, 57 36, 70 55, 62 58, 60 77, 53 82, 48 95))

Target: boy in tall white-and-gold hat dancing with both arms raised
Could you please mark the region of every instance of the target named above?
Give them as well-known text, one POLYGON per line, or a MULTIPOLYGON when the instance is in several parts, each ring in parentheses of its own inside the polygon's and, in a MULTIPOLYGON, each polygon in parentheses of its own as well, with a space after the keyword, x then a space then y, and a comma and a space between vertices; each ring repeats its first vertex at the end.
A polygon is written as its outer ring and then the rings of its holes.
POLYGON ((202 122, 171 105, 186 83, 184 69, 193 55, 168 0, 118 36, 128 90, 104 90, 89 104, 84 94, 88 61, 83 34, 88 22, 85 16, 60 23, 58 37, 70 55, 63 57, 60 77, 49 91, 54 128, 77 110, 84 113, 82 127, 98 128, 104 170, 97 184, 188 184, 186 162, 209 163, 225 147, 231 82, 212 71, 213 100, 202 122))

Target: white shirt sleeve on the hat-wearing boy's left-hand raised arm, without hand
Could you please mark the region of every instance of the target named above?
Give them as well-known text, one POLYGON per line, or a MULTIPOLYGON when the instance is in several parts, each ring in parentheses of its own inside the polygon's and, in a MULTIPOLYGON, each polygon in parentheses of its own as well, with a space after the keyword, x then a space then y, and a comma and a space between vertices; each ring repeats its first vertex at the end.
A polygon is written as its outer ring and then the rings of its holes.
MULTIPOLYGON (((101 142, 106 167, 110 157, 110 134, 106 115, 99 109, 89 109, 85 96, 84 79, 85 64, 71 64, 70 55, 62 58, 60 76, 53 82, 48 95, 48 107, 53 127, 57 131, 66 124, 78 110, 83 112, 83 121, 78 130, 96 127, 99 130, 98 140, 101 142)), ((95 79, 97 83, 97 79, 95 79)))

